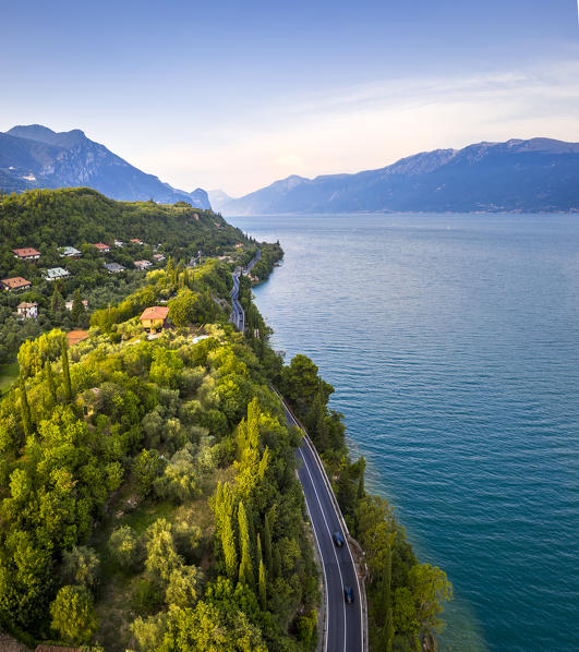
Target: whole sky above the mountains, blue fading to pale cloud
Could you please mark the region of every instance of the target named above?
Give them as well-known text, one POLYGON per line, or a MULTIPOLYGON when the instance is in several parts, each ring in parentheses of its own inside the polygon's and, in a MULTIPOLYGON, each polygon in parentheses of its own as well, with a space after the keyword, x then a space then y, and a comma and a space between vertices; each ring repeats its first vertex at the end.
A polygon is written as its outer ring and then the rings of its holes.
POLYGON ((176 188, 579 142, 577 0, 53 0, 2 10, 0 131, 82 129, 176 188))

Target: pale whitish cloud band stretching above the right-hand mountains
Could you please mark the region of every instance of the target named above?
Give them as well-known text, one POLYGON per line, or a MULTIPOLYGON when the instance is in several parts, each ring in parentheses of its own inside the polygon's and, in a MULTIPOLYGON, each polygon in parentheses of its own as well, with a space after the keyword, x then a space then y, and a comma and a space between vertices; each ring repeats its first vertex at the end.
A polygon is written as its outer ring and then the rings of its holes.
MULTIPOLYGON (((195 143, 161 147, 144 168, 244 194, 292 173, 378 168, 417 152, 479 141, 579 141, 579 63, 453 77, 388 79, 280 98, 232 113, 195 143), (290 99, 292 101, 290 101, 290 99)), ((137 157, 138 158, 138 157, 137 157)))

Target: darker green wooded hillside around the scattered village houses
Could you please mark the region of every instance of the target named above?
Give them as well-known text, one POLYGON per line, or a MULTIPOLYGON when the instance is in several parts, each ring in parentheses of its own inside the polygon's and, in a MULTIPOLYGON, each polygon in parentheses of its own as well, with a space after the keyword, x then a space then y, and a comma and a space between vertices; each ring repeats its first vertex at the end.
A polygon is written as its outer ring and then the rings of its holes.
MULTIPOLYGON (((0 279, 22 276, 33 283, 25 292, 0 292, 0 364, 12 362, 26 339, 53 327, 84 328, 91 312, 142 287, 145 273, 134 268, 134 261, 161 268, 171 257, 186 265, 192 259, 198 263, 201 252, 203 257, 222 256, 234 266, 246 264, 257 251, 257 243, 212 212, 182 202, 173 206, 116 202, 86 188, 0 195, 0 279), (131 242, 135 239, 141 243, 131 242), (123 246, 113 246, 116 240, 123 246), (111 251, 99 253, 93 246, 97 242, 110 244, 111 251), (12 250, 23 246, 37 249, 40 259, 17 259, 12 250), (74 246, 82 255, 62 257, 64 246, 74 246), (156 262, 154 255, 162 259, 156 262), (125 270, 111 275, 105 263, 118 263, 125 270), (70 276, 45 280, 43 269, 51 267, 63 267, 70 276), (77 306, 67 310, 65 302, 75 298, 77 306), (38 319, 17 319, 14 313, 21 302, 38 303, 38 319)), ((282 252, 278 245, 262 247, 257 271, 266 276, 282 252)))

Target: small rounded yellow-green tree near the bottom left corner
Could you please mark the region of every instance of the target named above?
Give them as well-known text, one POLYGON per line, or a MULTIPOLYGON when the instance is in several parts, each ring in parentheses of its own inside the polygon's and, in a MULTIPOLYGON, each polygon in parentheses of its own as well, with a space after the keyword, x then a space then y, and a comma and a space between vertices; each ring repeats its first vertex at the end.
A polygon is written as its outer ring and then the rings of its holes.
POLYGON ((65 585, 50 605, 51 627, 65 643, 87 643, 96 631, 93 597, 84 587, 65 585))

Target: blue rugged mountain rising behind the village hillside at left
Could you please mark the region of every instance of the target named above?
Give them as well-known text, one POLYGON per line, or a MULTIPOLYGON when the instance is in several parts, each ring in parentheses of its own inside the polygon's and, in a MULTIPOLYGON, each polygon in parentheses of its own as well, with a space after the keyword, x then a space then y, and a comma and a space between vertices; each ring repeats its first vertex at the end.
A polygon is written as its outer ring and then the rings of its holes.
POLYGON ((56 133, 40 124, 0 132, 0 190, 88 186, 113 200, 188 202, 210 208, 207 193, 178 190, 87 138, 79 129, 56 133))

